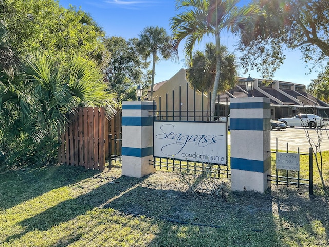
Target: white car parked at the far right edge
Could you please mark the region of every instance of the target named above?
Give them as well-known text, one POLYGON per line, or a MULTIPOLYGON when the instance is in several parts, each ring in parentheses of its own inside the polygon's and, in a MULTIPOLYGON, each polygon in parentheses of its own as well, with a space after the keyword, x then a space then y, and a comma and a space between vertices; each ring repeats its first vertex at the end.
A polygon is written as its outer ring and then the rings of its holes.
POLYGON ((279 118, 278 121, 284 122, 286 126, 304 126, 309 128, 323 127, 329 123, 328 119, 323 119, 314 114, 298 114, 294 117, 279 118))

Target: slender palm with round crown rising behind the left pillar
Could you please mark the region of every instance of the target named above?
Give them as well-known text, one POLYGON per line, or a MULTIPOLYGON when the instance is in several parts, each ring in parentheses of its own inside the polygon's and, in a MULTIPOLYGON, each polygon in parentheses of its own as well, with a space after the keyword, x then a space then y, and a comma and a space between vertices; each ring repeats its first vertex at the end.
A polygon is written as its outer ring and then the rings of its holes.
POLYGON ((145 27, 137 43, 138 50, 143 58, 148 59, 152 56, 152 80, 151 80, 151 98, 153 96, 155 64, 163 59, 171 57, 171 37, 168 36, 165 28, 158 26, 145 27))

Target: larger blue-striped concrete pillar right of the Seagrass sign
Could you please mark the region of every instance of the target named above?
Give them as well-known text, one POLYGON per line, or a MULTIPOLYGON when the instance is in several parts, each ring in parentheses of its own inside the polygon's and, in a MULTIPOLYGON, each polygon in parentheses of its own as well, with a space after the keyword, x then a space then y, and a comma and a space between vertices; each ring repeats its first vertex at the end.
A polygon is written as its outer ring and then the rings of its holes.
POLYGON ((232 190, 263 193, 271 174, 270 99, 231 99, 230 114, 232 190))

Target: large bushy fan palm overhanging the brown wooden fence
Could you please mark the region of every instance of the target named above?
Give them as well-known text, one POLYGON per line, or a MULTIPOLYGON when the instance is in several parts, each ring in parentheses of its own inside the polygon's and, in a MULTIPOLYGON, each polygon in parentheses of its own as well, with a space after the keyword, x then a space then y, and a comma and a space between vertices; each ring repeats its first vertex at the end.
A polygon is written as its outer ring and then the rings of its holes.
POLYGON ((75 54, 69 62, 56 61, 40 51, 25 65, 12 83, 0 80, 0 167, 18 165, 40 150, 51 158, 54 148, 47 145, 57 143, 58 128, 79 105, 104 106, 109 114, 116 107, 116 93, 108 90, 92 60, 75 54))

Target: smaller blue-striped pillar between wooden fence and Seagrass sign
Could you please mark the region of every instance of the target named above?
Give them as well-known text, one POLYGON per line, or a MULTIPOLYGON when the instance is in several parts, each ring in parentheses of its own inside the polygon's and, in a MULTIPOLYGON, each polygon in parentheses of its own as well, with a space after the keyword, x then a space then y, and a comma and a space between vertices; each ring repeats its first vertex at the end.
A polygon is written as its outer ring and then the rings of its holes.
POLYGON ((153 110, 151 101, 122 102, 122 175, 143 177, 156 171, 153 158, 153 110))

